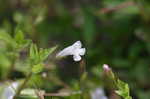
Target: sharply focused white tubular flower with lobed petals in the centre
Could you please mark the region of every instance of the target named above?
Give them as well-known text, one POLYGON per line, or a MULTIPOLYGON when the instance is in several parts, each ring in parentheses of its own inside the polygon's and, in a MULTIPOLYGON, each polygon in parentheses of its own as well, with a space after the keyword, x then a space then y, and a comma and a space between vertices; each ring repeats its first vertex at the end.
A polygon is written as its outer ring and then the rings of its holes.
POLYGON ((60 51, 56 57, 64 57, 68 55, 73 55, 74 61, 80 61, 81 56, 83 56, 86 52, 85 48, 81 48, 82 44, 80 41, 76 41, 73 45, 68 46, 67 48, 60 51))

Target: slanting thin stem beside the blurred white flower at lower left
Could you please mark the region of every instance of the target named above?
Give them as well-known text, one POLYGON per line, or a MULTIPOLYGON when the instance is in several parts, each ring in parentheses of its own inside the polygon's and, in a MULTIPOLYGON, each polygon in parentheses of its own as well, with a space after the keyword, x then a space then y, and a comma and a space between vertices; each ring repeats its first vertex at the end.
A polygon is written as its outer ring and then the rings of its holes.
POLYGON ((13 99, 17 99, 17 97, 20 95, 22 89, 26 86, 27 82, 30 80, 32 76, 32 72, 30 72, 28 74, 28 76, 26 77, 26 79, 24 80, 24 82, 22 83, 22 85, 19 86, 17 92, 16 92, 16 95, 13 97, 13 99))

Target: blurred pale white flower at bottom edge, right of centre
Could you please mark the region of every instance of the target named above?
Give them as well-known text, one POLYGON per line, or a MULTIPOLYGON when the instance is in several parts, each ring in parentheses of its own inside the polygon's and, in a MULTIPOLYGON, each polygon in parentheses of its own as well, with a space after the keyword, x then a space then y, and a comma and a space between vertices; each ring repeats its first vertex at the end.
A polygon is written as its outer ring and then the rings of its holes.
POLYGON ((96 88, 91 92, 91 99, 108 99, 105 96, 104 90, 102 88, 96 88))

